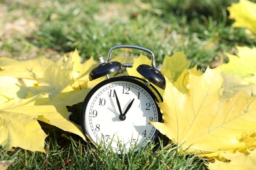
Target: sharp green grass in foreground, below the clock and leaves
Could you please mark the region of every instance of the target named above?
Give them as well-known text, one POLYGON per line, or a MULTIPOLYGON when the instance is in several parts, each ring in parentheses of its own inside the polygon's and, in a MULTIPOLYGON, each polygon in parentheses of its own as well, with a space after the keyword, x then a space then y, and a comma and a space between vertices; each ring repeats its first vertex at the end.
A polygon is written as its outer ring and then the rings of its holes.
MULTIPOLYGON (((47 125, 43 125, 47 126, 47 125)), ((0 160, 14 160, 10 169, 205 169, 205 160, 179 153, 164 137, 139 152, 116 154, 93 144, 66 138, 68 133, 47 126, 50 136, 45 143, 46 154, 16 149, 0 149, 0 160), (64 136, 64 137, 62 137, 64 136)))

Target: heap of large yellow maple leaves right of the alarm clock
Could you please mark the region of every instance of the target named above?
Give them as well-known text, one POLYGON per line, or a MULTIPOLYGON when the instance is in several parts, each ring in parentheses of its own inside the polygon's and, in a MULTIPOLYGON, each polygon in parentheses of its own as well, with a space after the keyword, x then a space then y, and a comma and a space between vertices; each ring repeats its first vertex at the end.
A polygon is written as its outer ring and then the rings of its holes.
MULTIPOLYGON (((184 69, 174 83, 173 76, 167 77, 164 102, 159 104, 164 122, 154 122, 182 150, 215 160, 209 167, 219 165, 218 161, 237 162, 248 155, 256 160, 256 72, 232 75, 236 65, 244 63, 247 57, 256 61, 256 48, 238 49, 240 56, 232 56, 237 59, 234 63, 207 68, 201 75, 184 69), (251 56, 244 57, 246 53, 251 56), (234 79, 240 81, 229 81, 234 79)), ((171 59, 174 58, 168 63, 171 59)), ((256 68, 256 62, 247 63, 247 67, 256 68)), ((256 161, 251 163, 255 166, 256 161)))

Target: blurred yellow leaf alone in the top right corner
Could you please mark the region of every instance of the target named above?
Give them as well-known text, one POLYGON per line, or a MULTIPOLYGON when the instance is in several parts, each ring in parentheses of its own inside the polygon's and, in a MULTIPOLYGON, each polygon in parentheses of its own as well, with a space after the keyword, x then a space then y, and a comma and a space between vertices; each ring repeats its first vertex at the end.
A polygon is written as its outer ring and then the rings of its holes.
POLYGON ((234 19, 234 27, 244 27, 256 35, 256 3, 240 0, 228 7, 230 18, 234 19))

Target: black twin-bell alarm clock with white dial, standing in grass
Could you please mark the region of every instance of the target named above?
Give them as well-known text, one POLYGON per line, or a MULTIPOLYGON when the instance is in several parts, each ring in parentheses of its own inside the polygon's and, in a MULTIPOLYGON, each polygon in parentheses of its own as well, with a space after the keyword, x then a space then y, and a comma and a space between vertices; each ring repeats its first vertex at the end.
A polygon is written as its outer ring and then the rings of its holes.
POLYGON ((158 130, 150 122, 161 122, 158 102, 163 99, 154 86, 164 90, 165 78, 160 67, 155 67, 153 52, 140 46, 114 46, 106 61, 100 58, 98 67, 89 73, 89 80, 101 76, 106 76, 106 80, 97 84, 83 101, 81 127, 85 135, 95 144, 103 144, 118 154, 137 151, 155 141, 158 130), (132 63, 110 61, 116 48, 135 48, 150 54, 152 65, 137 67, 146 80, 136 76, 108 76, 125 67, 133 67, 132 63))

